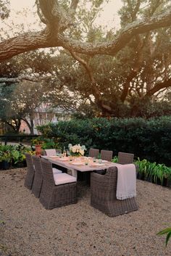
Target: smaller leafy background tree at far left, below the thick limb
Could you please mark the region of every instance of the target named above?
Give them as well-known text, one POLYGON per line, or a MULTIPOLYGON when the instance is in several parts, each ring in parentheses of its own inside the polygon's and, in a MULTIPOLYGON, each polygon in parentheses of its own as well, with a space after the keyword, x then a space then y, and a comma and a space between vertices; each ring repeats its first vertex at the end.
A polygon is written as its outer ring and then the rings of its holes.
POLYGON ((43 102, 49 89, 43 83, 23 81, 0 86, 0 120, 19 133, 21 120, 33 134, 36 108, 43 102))

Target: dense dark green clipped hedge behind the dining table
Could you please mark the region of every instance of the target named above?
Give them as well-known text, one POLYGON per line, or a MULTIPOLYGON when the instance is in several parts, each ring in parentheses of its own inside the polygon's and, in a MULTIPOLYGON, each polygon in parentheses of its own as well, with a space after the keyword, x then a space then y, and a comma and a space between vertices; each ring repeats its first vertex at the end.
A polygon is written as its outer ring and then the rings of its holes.
POLYGON ((54 138, 59 147, 85 144, 87 148, 130 152, 135 157, 171 166, 171 117, 93 118, 60 121, 38 127, 42 135, 54 138))

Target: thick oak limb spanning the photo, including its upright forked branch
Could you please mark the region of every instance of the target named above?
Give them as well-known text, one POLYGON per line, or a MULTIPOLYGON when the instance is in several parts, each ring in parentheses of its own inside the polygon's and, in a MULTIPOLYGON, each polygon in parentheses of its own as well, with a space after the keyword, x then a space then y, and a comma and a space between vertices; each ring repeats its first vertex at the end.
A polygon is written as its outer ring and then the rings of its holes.
POLYGON ((154 15, 146 20, 130 23, 115 36, 113 41, 86 43, 64 36, 64 30, 74 25, 74 15, 78 7, 78 0, 72 0, 68 13, 59 5, 57 0, 39 0, 38 15, 46 23, 46 28, 38 32, 24 33, 9 38, 0 43, 0 62, 12 58, 26 51, 39 48, 58 47, 82 54, 114 55, 123 49, 128 42, 141 33, 171 25, 171 9, 160 15, 154 15))

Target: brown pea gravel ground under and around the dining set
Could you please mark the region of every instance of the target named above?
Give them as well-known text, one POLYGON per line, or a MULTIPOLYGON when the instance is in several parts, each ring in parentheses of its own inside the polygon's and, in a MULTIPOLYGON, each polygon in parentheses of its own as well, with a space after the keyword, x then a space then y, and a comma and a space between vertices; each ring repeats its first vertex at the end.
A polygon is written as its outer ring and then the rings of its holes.
POLYGON ((0 255, 163 256, 171 241, 157 232, 171 225, 171 189, 137 181, 139 210, 109 218, 90 205, 78 184, 78 203, 45 210, 23 185, 26 169, 0 171, 0 255))

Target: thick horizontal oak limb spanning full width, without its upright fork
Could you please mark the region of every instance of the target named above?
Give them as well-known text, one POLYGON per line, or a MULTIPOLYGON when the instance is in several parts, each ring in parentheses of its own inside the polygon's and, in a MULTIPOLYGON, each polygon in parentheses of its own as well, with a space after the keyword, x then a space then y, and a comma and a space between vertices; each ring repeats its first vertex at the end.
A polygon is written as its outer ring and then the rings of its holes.
POLYGON ((138 20, 129 24, 120 30, 114 41, 106 43, 83 43, 62 36, 61 34, 57 37, 57 34, 51 30, 51 26, 47 26, 45 30, 40 32, 25 33, 1 42, 0 62, 26 51, 53 46, 62 46, 69 51, 84 54, 114 55, 125 47, 133 36, 169 25, 171 25, 171 9, 162 13, 162 15, 151 17, 148 20, 138 20))

